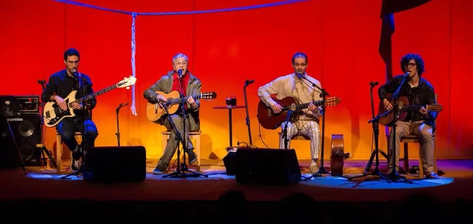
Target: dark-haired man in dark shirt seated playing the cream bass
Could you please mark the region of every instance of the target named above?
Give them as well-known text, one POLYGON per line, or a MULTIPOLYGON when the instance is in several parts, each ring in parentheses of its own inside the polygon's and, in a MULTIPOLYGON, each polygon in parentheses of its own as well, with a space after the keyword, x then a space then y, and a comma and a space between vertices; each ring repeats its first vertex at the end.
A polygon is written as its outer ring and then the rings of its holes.
MULTIPOLYGON (((59 106, 58 110, 67 111, 69 110, 67 106, 68 102, 64 99, 67 98, 69 93, 73 90, 77 91, 76 98, 94 92, 89 76, 77 72, 79 60, 79 52, 73 48, 68 49, 64 53, 66 69, 56 72, 49 77, 49 82, 46 84, 41 95, 43 102, 56 102, 59 106), (86 92, 83 92, 84 85, 86 92)), ((82 153, 81 146, 77 144, 77 140, 74 138, 74 132, 82 132, 82 125, 85 124, 84 147, 86 148, 94 146, 94 142, 98 136, 97 127, 92 121, 91 116, 91 110, 95 108, 96 104, 97 100, 95 98, 86 102, 85 107, 87 112, 84 120, 82 111, 83 105, 76 102, 71 103, 70 106, 74 108, 76 116, 65 117, 56 125, 57 132, 72 151, 72 162, 70 164, 72 170, 79 169, 82 153)), ((57 143, 59 144, 60 142, 57 143)))

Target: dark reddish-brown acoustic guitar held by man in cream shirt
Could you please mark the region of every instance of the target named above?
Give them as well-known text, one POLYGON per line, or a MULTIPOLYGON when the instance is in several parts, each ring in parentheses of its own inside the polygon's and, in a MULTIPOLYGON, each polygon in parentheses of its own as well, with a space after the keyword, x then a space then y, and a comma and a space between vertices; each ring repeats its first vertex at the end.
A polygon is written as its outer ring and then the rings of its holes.
MULTIPOLYGON (((263 128, 274 130, 281 125, 282 122, 286 120, 287 112, 290 110, 292 104, 295 104, 295 111, 301 111, 306 109, 309 106, 309 103, 299 104, 299 102, 294 97, 285 97, 281 100, 278 100, 274 97, 271 97, 272 100, 276 101, 283 108, 281 112, 274 113, 270 107, 267 107, 263 101, 258 103, 258 112, 256 117, 258 122, 263 128)), ((322 106, 323 101, 314 101, 312 102, 315 106, 322 106)), ((338 97, 329 97, 325 99, 325 106, 335 106, 340 103, 340 98, 338 97)))

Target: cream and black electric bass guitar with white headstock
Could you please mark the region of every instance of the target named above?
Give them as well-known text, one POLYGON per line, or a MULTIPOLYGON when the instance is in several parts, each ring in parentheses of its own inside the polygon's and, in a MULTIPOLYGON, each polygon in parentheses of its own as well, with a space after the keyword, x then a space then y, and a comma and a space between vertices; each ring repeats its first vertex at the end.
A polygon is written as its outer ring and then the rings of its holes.
POLYGON ((117 84, 114 84, 112 86, 109 86, 107 88, 104 88, 98 92, 89 94, 87 96, 84 96, 80 99, 75 99, 75 94, 77 93, 77 90, 72 90, 69 95, 64 99, 66 101, 68 109, 66 111, 63 111, 56 102, 47 102, 44 105, 44 110, 43 110, 43 115, 44 115, 44 124, 47 127, 54 127, 56 126, 61 120, 63 120, 65 117, 73 117, 75 116, 74 109, 72 108, 72 103, 76 102, 78 104, 82 104, 84 101, 91 100, 103 93, 109 92, 113 89, 116 88, 123 88, 127 87, 130 85, 133 85, 136 83, 136 78, 133 76, 130 76, 128 78, 123 79, 117 84))

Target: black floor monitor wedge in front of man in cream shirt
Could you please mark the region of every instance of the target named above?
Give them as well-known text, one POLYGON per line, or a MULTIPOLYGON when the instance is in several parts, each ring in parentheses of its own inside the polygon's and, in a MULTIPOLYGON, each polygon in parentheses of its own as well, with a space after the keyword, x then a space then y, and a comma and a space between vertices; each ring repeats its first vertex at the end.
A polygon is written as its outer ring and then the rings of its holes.
POLYGON ((301 169, 294 149, 239 148, 235 176, 240 184, 291 185, 301 169))

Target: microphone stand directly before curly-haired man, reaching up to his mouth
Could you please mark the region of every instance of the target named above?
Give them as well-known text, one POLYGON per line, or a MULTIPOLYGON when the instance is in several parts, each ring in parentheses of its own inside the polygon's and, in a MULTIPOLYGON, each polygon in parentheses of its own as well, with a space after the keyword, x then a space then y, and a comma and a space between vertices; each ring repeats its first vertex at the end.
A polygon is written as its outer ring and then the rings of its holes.
POLYGON ((399 84, 398 89, 393 94, 394 120, 393 120, 393 127, 392 127, 392 130, 391 130, 391 132, 393 134, 393 150, 391 152, 392 153, 391 156, 393 157, 393 161, 392 161, 393 168, 392 168, 391 173, 389 173, 387 175, 387 178, 390 179, 393 182, 407 181, 407 182, 412 184, 413 183, 412 181, 407 180, 404 176, 399 175, 398 171, 396 170, 396 127, 398 126, 396 123, 398 121, 399 114, 402 111, 400 109, 402 109, 402 106, 403 106, 402 102, 397 102, 397 101, 399 100, 399 94, 401 92, 401 87, 403 86, 403 84, 407 80, 406 79, 407 77, 408 77, 408 73, 405 76, 403 76, 403 79, 401 80, 401 84, 399 84), (398 107, 401 107, 401 108, 398 108, 398 107))

